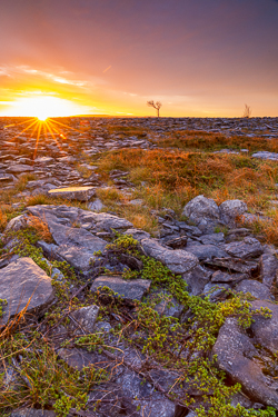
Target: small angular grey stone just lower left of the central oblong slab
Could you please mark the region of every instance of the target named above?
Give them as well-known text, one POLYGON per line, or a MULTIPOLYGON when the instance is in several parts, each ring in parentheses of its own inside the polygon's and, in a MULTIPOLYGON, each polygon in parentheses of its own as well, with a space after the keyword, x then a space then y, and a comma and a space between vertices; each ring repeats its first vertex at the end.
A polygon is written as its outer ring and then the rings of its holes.
POLYGON ((95 325, 98 318, 99 307, 96 305, 79 308, 70 312, 71 324, 70 329, 76 330, 78 334, 93 332, 95 325))

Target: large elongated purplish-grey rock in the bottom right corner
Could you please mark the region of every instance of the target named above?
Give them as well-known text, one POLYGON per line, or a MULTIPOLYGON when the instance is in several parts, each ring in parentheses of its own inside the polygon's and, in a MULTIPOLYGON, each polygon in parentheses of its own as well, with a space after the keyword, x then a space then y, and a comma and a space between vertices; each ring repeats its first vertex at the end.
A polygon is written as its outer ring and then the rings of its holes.
POLYGON ((278 409, 277 383, 266 377, 260 365, 254 360, 259 353, 236 318, 226 319, 212 348, 212 355, 217 355, 219 368, 225 370, 234 383, 239 383, 248 397, 278 409))

